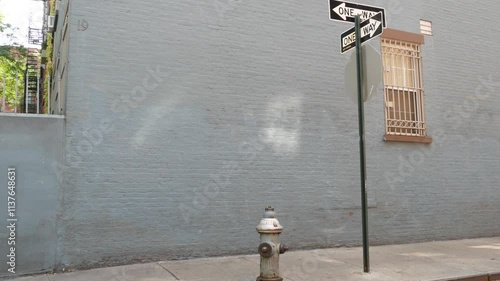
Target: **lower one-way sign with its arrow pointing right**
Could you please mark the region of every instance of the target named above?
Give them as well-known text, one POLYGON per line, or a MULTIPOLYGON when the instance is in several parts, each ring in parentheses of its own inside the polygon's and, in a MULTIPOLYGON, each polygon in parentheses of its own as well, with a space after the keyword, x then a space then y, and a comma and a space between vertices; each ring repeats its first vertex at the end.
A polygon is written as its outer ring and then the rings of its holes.
MULTIPOLYGON (((379 36, 382 30, 382 13, 378 13, 361 23, 361 43, 379 36)), ((356 32, 353 27, 340 35, 340 53, 343 54, 354 47, 356 47, 356 32)))

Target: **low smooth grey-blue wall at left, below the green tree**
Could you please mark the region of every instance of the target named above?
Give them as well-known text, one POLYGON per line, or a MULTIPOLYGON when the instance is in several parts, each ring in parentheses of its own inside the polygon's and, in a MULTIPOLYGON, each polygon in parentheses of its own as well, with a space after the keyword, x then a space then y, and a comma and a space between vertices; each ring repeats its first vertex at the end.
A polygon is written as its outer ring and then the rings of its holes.
MULTIPOLYGON (((7 264, 15 247, 15 273, 53 268, 61 186, 53 163, 63 156, 64 118, 0 114, 0 277, 13 275, 7 264), (7 170, 16 169, 15 245, 8 245, 7 170)), ((12 240, 11 240, 12 241, 12 240)), ((12 243, 12 242, 11 242, 12 243)))

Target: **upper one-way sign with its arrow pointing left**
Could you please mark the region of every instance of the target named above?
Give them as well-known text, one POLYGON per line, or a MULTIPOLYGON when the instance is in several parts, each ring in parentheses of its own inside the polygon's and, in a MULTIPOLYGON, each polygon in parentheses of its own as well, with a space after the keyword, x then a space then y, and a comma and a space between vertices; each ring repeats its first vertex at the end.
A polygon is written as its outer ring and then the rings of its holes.
POLYGON ((354 17, 359 15, 365 21, 374 15, 382 13, 383 27, 387 27, 385 9, 375 6, 366 6, 346 1, 330 0, 330 19, 342 22, 354 22, 354 17))

